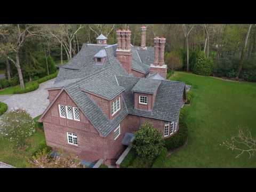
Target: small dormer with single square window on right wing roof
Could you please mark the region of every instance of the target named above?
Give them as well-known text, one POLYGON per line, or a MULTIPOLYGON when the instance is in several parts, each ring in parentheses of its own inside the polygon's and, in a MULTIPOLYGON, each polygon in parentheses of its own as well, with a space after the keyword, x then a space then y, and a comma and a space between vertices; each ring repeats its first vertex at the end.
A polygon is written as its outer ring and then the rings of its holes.
POLYGON ((134 94, 134 108, 151 111, 161 81, 141 78, 132 88, 134 94))

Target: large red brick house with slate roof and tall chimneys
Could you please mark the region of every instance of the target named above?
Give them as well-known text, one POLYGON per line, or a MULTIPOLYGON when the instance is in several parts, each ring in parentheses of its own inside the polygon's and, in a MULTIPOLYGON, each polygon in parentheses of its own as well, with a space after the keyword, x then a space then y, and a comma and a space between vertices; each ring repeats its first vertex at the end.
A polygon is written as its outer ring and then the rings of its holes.
POLYGON ((47 88, 50 105, 43 122, 47 145, 63 149, 89 162, 103 159, 113 165, 125 149, 126 134, 149 121, 163 138, 179 129, 180 108, 186 101, 183 82, 167 81, 165 38, 146 46, 131 45, 131 31, 117 30, 117 44, 100 35, 97 44, 81 51, 60 68, 47 88))

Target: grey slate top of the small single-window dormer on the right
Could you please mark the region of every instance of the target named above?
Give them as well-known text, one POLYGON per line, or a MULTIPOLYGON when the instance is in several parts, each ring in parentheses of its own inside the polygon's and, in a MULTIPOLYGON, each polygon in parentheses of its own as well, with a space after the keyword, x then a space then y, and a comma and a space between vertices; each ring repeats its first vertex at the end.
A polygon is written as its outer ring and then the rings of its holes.
POLYGON ((160 84, 161 84, 161 81, 155 81, 155 79, 141 78, 133 86, 132 91, 140 92, 140 93, 154 94, 157 91, 158 86, 160 84))

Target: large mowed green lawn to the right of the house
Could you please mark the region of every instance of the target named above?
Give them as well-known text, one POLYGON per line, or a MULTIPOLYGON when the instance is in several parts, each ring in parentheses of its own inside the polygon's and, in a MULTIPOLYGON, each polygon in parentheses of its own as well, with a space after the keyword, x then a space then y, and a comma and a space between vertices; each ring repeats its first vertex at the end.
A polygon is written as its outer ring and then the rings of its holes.
POLYGON ((220 144, 238 134, 239 126, 256 137, 256 83, 228 82, 184 72, 170 78, 192 85, 187 107, 188 145, 171 154, 166 167, 256 167, 256 157, 235 158, 238 151, 220 144))

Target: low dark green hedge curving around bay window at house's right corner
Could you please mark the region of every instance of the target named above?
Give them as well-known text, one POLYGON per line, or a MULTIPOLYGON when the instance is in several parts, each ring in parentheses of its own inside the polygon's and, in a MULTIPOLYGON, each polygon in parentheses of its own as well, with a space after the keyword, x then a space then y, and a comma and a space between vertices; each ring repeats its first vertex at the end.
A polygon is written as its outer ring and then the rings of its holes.
POLYGON ((185 145, 188 139, 188 128, 185 122, 179 123, 179 130, 172 137, 165 139, 165 147, 168 150, 177 149, 185 145))

